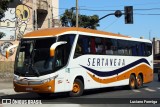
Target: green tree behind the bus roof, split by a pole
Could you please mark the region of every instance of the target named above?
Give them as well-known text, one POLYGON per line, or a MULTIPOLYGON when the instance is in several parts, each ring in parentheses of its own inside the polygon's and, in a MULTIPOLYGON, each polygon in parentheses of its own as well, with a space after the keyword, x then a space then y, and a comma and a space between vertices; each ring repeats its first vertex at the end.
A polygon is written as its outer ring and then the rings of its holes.
MULTIPOLYGON (((76 13, 73 12, 73 8, 65 10, 65 13, 61 17, 62 26, 75 27, 76 26, 76 13)), ((79 27, 96 29, 99 24, 98 15, 87 16, 79 15, 79 27)))

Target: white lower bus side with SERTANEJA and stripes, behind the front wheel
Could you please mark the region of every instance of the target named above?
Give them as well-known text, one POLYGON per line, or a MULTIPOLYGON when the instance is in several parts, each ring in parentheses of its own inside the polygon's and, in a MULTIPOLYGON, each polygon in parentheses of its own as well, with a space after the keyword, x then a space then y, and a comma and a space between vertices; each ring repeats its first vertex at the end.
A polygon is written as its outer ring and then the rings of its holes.
POLYGON ((128 85, 131 74, 142 73, 144 83, 153 77, 150 58, 145 57, 83 55, 73 63, 73 68, 81 67, 81 73, 86 73, 86 89, 128 85))

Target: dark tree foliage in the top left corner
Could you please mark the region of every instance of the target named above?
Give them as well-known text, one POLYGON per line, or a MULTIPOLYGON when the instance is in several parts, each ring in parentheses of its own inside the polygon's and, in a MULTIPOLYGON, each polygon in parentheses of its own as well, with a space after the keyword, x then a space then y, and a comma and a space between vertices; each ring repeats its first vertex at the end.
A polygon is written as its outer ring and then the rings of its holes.
POLYGON ((4 17, 4 12, 7 10, 10 2, 14 0, 0 0, 0 20, 4 17))

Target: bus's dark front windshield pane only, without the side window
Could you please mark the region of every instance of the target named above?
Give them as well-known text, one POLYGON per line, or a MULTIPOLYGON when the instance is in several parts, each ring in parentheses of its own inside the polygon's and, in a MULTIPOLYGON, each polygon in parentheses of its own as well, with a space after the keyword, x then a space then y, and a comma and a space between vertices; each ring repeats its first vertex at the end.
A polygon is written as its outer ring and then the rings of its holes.
POLYGON ((22 39, 17 53, 15 74, 40 76, 52 72, 50 47, 56 38, 22 39))

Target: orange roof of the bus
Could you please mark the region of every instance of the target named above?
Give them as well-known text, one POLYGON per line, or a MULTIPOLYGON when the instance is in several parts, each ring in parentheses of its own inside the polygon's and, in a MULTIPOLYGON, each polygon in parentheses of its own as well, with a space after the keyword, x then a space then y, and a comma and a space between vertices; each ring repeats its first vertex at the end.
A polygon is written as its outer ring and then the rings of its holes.
POLYGON ((41 29, 37 31, 33 31, 30 33, 27 33, 24 35, 24 38, 37 38, 37 37, 48 37, 48 36, 56 36, 65 32, 69 31, 79 31, 79 32, 85 32, 85 33, 94 33, 94 34, 103 34, 108 36, 117 36, 117 37, 125 37, 130 38, 129 36, 124 36, 120 34, 114 34, 104 31, 98 31, 93 29, 86 29, 86 28, 76 28, 76 27, 61 27, 61 28, 47 28, 47 29, 41 29))

